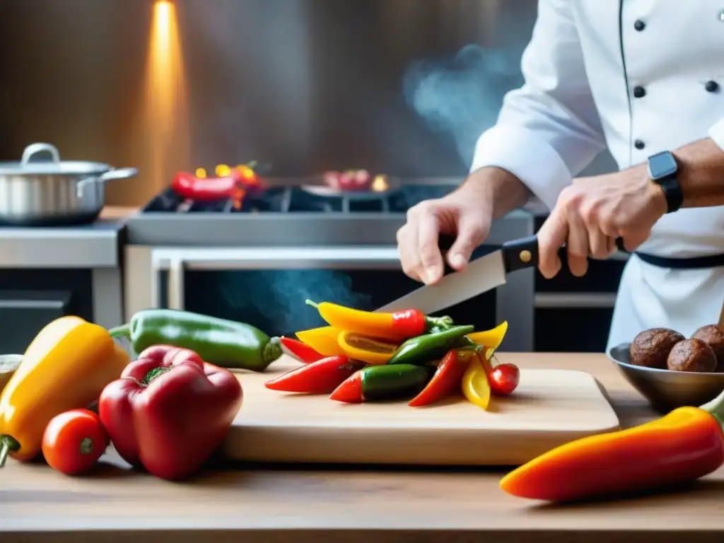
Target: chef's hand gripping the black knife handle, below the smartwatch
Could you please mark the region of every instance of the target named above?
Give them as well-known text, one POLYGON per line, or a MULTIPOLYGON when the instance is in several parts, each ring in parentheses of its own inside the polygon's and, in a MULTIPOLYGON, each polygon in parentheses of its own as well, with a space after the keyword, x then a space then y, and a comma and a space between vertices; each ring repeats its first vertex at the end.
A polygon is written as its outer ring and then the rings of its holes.
POLYGON ((568 267, 581 277, 589 256, 607 258, 618 237, 626 251, 634 251, 666 209, 664 193, 645 166, 574 180, 538 231, 539 269, 544 277, 554 277, 561 267, 558 250, 565 244, 568 267))

